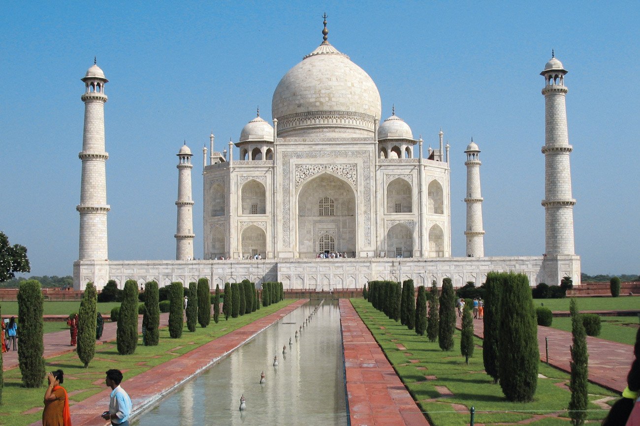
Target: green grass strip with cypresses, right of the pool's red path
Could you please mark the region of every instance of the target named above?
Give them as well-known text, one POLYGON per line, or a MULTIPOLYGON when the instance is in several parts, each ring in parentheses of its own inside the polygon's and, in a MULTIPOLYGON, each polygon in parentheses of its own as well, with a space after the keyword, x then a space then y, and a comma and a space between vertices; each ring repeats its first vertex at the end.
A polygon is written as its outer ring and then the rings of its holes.
MULTIPOLYGON (((484 373, 481 347, 476 346, 469 364, 465 363, 464 357, 460 354, 460 331, 456 330, 454 335, 454 350, 443 352, 437 342, 428 342, 425 336, 418 336, 415 331, 408 330, 399 322, 388 319, 364 299, 351 299, 351 303, 371 330, 413 398, 422 411, 428 412, 429 420, 435 426, 468 424, 469 412, 457 412, 451 404, 460 404, 467 409, 474 406, 478 423, 517 422, 531 419, 536 413, 562 411, 568 406, 570 392, 564 388, 563 384, 568 383, 569 375, 556 368, 540 364, 539 372, 547 378, 538 379, 532 402, 527 404, 509 402, 502 395, 500 386, 493 384, 491 377, 484 373), (397 349, 397 343, 406 347, 406 350, 397 349), (419 362, 412 363, 410 359, 417 359, 419 362), (423 369, 419 370, 419 367, 423 369), (436 379, 428 380, 425 375, 435 375, 436 379), (446 386, 453 396, 442 397, 435 386, 446 386)), ((479 338, 474 339, 476 345, 482 344, 479 338)), ((594 395, 591 399, 616 395, 593 384, 589 384, 589 393, 594 395)), ((588 408, 599 409, 592 403, 588 408)), ((589 413, 589 418, 600 420, 605 415, 604 411, 593 411, 589 413)), ((530 424, 536 426, 568 424, 557 418, 550 420, 552 421, 532 420, 530 424)))

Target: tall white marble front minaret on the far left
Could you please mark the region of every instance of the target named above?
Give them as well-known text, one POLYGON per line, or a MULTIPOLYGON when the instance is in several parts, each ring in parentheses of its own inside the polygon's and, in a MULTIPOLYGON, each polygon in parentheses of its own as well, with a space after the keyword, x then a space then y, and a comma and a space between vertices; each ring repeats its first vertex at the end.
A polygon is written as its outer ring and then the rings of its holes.
POLYGON ((80 203, 76 210, 80 213, 79 260, 108 260, 107 246, 107 182, 106 161, 109 154, 104 151, 104 84, 108 82, 104 72, 93 65, 84 75, 84 132, 82 151, 78 154, 82 161, 80 203))

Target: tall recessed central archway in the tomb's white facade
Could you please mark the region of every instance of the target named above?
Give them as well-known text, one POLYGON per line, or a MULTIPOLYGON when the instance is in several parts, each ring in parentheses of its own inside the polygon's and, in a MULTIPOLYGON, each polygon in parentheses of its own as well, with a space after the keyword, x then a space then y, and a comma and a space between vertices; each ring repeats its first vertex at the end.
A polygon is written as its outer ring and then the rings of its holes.
POLYGON ((356 213, 356 194, 346 180, 325 172, 305 182, 298 193, 298 257, 316 258, 330 246, 351 257, 358 239, 356 213))

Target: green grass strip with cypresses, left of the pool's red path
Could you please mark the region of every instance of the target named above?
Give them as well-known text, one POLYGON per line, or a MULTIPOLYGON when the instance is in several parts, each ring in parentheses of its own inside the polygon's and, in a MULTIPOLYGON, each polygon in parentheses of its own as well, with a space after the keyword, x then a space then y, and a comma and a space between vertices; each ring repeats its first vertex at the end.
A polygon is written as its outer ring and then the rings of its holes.
MULTIPOLYGON (((265 317, 269 313, 276 312, 284 306, 291 304, 295 299, 285 299, 282 302, 272 304, 266 308, 246 314, 236 319, 226 321, 221 317, 215 324, 211 321, 209 327, 196 327, 196 331, 190 333, 186 324, 182 337, 172 339, 169 337, 168 328, 160 329, 160 342, 157 346, 142 346, 141 338, 138 340, 136 353, 132 355, 120 355, 115 347, 115 342, 98 345, 95 357, 88 368, 84 368, 75 352, 64 354, 55 358, 46 359, 47 371, 61 368, 65 372, 63 386, 70 395, 70 400, 81 401, 95 393, 106 389, 104 384, 104 372, 109 368, 119 368, 124 372, 123 386, 126 388, 127 380, 141 374, 152 367, 170 361, 179 355, 186 354, 197 347, 211 342, 220 336, 226 335, 240 327, 250 324, 254 320, 265 317), (74 393, 77 392, 77 393, 74 393)), ((42 398, 45 392, 45 381, 42 388, 28 389, 22 387, 20 381, 20 369, 13 368, 4 372, 3 405, 0 406, 0 425, 26 426, 42 418, 42 411, 26 414, 26 411, 34 407, 42 407, 42 398), (25 413, 25 414, 23 414, 25 413)), ((96 415, 102 413, 108 407, 95 407, 96 415)))

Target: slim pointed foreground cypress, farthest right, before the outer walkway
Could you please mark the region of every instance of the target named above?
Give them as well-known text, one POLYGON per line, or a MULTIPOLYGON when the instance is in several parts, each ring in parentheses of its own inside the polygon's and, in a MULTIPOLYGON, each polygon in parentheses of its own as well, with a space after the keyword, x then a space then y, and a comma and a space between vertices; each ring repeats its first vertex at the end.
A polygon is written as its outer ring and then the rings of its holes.
POLYGON ((575 297, 572 297, 570 308, 573 345, 571 347, 571 400, 569 402, 569 417, 573 426, 584 424, 588 399, 589 354, 587 352, 587 335, 578 312, 575 297))

